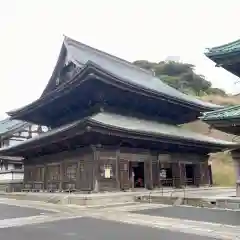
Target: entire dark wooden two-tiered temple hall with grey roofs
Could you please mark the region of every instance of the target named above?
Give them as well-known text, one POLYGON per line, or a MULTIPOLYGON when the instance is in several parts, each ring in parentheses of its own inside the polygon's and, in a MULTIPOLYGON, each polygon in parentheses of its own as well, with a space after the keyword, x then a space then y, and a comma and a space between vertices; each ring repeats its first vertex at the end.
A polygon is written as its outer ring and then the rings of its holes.
POLYGON ((41 97, 8 113, 51 130, 3 148, 0 155, 24 158, 24 188, 30 190, 206 185, 208 154, 239 144, 178 125, 220 108, 65 37, 41 97))

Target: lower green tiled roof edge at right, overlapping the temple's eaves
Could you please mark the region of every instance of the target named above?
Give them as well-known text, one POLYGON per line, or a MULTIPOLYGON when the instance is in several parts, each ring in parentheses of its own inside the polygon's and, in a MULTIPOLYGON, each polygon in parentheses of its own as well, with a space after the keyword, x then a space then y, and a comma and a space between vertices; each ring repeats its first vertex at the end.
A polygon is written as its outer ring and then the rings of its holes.
POLYGON ((221 110, 205 112, 201 117, 203 121, 211 120, 230 120, 240 118, 240 105, 226 107, 221 110))

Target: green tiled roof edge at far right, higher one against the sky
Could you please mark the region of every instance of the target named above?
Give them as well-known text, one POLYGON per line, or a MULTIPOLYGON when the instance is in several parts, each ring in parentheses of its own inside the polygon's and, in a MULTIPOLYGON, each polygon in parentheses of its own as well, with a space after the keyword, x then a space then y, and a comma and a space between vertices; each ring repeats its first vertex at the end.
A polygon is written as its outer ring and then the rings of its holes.
POLYGON ((240 52, 240 39, 218 47, 210 48, 205 54, 207 57, 211 58, 214 56, 221 56, 237 52, 240 52))

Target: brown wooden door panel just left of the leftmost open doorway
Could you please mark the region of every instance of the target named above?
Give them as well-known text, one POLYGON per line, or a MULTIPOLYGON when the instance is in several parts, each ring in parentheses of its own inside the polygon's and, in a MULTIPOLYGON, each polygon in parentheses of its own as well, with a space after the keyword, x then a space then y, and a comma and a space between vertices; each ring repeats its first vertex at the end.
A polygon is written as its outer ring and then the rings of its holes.
POLYGON ((121 190, 127 190, 130 188, 128 160, 125 159, 119 160, 119 182, 121 190))

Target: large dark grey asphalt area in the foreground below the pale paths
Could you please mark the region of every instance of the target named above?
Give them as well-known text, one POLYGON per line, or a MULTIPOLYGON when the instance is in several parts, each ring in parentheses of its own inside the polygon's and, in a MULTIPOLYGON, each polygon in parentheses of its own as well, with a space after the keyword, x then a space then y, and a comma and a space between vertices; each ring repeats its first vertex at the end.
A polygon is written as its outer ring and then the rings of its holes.
POLYGON ((4 240, 213 240, 180 232, 122 224, 92 218, 78 218, 57 222, 0 229, 4 240))

